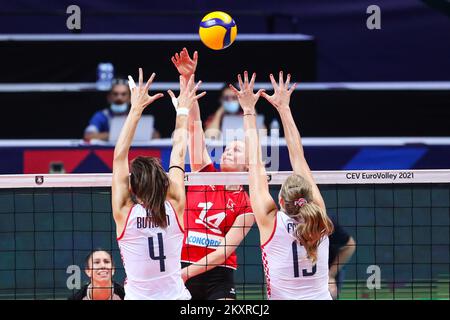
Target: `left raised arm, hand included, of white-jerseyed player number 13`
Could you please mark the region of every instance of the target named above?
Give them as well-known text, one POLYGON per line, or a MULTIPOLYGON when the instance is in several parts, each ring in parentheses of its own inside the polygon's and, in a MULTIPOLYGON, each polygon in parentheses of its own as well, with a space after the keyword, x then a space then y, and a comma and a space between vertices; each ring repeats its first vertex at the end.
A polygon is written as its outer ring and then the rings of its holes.
MULTIPOLYGON (((256 74, 248 81, 248 73, 244 72, 244 82, 241 75, 238 75, 240 90, 230 85, 230 88, 236 93, 239 104, 244 111, 244 130, 245 130, 245 152, 249 164, 250 180, 250 202, 253 213, 255 214, 258 227, 264 230, 272 230, 274 217, 277 212, 277 206, 269 193, 266 169, 261 159, 261 146, 259 144, 258 132, 256 127, 255 105, 264 90, 253 93, 256 74)), ((264 236, 261 234, 261 241, 264 236)))

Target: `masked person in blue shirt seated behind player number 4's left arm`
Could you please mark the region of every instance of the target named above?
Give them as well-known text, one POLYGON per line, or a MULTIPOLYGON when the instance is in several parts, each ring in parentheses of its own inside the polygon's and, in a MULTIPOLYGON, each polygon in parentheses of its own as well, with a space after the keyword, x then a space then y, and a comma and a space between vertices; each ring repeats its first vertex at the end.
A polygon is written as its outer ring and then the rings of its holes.
MULTIPOLYGON (((89 121, 89 125, 84 130, 84 140, 93 139, 108 141, 111 119, 115 116, 124 116, 128 113, 130 105, 130 89, 127 80, 116 79, 113 81, 107 100, 109 107, 97 111, 89 121)), ((152 138, 159 138, 156 130, 153 131, 152 138)))

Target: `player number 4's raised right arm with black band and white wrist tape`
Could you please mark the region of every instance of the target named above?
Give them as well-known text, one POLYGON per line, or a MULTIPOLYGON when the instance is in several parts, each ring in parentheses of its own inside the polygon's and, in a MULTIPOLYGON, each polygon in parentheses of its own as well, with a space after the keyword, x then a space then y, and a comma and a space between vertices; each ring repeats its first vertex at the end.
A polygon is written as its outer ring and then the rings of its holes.
POLYGON ((178 98, 169 90, 168 93, 174 102, 177 110, 175 122, 175 131, 173 133, 172 152, 170 154, 169 167, 169 190, 167 199, 170 200, 178 215, 180 223, 182 223, 184 205, 186 202, 186 194, 184 189, 184 159, 186 157, 187 140, 188 140, 188 114, 192 109, 194 102, 203 97, 206 92, 196 95, 196 91, 201 81, 194 84, 194 75, 189 81, 180 76, 180 95, 178 98))

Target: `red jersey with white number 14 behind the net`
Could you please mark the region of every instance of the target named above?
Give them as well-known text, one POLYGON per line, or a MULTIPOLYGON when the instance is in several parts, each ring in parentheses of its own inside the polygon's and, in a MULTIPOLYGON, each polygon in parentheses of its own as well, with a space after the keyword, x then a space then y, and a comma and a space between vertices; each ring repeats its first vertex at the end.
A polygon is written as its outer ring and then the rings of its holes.
MULTIPOLYGON (((215 171, 212 163, 201 170, 215 171)), ((195 263, 214 252, 242 214, 252 214, 249 196, 242 187, 239 190, 226 190, 225 186, 188 187, 181 261, 195 263)), ((236 253, 233 252, 221 266, 236 269, 236 253)))

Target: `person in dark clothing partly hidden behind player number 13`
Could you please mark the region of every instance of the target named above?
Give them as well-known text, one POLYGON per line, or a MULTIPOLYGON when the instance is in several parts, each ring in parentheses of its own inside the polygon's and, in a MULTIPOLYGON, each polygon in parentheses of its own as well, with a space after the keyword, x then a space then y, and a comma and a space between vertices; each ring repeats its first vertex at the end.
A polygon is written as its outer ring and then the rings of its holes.
POLYGON ((353 256, 356 249, 355 240, 338 224, 337 219, 330 216, 334 225, 334 232, 330 235, 329 247, 329 281, 328 288, 333 299, 337 299, 342 283, 344 271, 342 268, 353 256))

